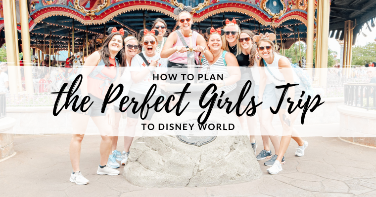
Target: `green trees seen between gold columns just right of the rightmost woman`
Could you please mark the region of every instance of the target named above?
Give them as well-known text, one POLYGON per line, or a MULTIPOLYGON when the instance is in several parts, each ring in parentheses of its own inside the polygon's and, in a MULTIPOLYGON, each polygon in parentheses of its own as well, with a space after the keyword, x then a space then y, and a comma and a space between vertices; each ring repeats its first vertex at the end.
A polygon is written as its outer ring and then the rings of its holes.
MULTIPOLYGON (((300 50, 301 50, 301 53, 302 53, 302 57, 307 57, 306 55, 306 51, 307 51, 307 45, 304 43, 304 42, 300 42, 300 50)), ((285 56, 287 58, 291 58, 292 60, 292 64, 297 64, 297 61, 296 61, 296 55, 295 55, 295 48, 296 48, 296 54, 297 54, 297 58, 298 58, 298 61, 300 59, 300 54, 299 54, 299 44, 298 42, 295 42, 293 45, 291 45, 291 47, 289 49, 286 49, 285 50, 285 56)), ((282 51, 281 51, 282 53, 282 51)), ((335 62, 336 62, 336 56, 337 53, 331 49, 328 50, 328 67, 332 67, 335 65, 335 62)), ((337 55, 338 57, 338 55, 337 55)), ((313 65, 316 65, 316 41, 314 41, 313 43, 313 65)))

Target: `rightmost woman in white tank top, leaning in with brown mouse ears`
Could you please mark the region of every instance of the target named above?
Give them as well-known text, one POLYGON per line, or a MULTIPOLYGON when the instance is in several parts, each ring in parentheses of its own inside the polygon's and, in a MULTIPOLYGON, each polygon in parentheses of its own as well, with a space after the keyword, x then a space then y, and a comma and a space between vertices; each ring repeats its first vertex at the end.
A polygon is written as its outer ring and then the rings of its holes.
MULTIPOLYGON (((259 65, 263 67, 264 72, 260 72, 260 91, 258 96, 264 94, 265 86, 266 86, 266 79, 267 76, 273 81, 275 86, 289 84, 298 84, 300 83, 299 77, 296 73, 292 70, 290 62, 287 60, 286 57, 280 56, 274 50, 274 42, 273 40, 276 39, 276 35, 274 33, 266 33, 265 35, 255 35, 253 40, 257 42, 257 50, 260 55, 260 62, 259 65)), ((297 131, 293 128, 294 122, 299 115, 300 109, 297 108, 294 112, 289 114, 286 110, 287 108, 287 98, 290 100, 298 100, 300 99, 301 91, 304 90, 301 85, 293 86, 288 88, 288 92, 284 97, 281 105, 280 110, 278 112, 280 116, 280 121, 282 123, 283 131, 281 137, 281 145, 278 151, 278 156, 273 164, 272 167, 268 168, 267 171, 270 174, 277 174, 278 172, 282 171, 282 162, 283 156, 286 152, 288 145, 292 138, 298 143, 299 147, 295 153, 296 156, 303 156, 304 149, 308 146, 308 142, 304 141, 301 137, 298 137, 297 131), (285 116, 285 117, 283 117, 285 116), (289 125, 289 126, 288 126, 289 125)), ((279 101, 282 96, 282 89, 276 89, 276 99, 279 101)), ((259 99, 260 99, 259 98, 259 99)), ((294 104, 296 105, 297 102, 294 104)))

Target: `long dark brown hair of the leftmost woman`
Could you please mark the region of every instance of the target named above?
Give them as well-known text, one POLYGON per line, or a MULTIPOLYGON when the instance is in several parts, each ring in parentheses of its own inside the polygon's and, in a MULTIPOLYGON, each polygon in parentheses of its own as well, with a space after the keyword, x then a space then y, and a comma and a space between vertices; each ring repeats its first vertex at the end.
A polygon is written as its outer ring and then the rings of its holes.
POLYGON ((100 54, 100 59, 103 60, 104 64, 106 66, 110 66, 110 51, 108 50, 108 44, 110 43, 111 39, 115 35, 120 35, 122 37, 123 41, 123 47, 120 49, 120 51, 116 54, 115 58, 118 59, 119 61, 119 66, 120 67, 125 67, 127 65, 125 61, 125 49, 124 49, 124 38, 119 32, 114 32, 109 34, 106 39, 103 42, 103 45, 99 48, 98 52, 100 54))

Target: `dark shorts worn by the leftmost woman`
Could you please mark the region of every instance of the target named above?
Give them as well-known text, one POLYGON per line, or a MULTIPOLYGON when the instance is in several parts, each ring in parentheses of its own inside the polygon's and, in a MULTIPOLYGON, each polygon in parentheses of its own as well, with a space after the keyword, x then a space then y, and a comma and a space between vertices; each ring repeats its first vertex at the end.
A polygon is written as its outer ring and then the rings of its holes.
MULTIPOLYGON (((81 91, 78 90, 75 95, 79 96, 79 99, 78 99, 78 101, 76 103, 76 107, 77 107, 79 104, 81 104, 81 100, 82 100, 81 91)), ((89 102, 93 102, 93 104, 89 107, 88 111, 82 112, 81 109, 78 109, 76 111, 76 113, 80 113, 80 114, 84 114, 84 115, 89 115, 91 117, 105 116, 106 112, 107 112, 107 106, 104 109, 104 112, 103 113, 101 112, 102 105, 103 105, 103 100, 99 99, 99 98, 97 98, 95 96, 93 96, 90 93, 88 94, 88 96, 90 97, 90 101, 89 102)), ((73 111, 72 105, 73 105, 73 102, 69 105, 70 111, 73 111)))

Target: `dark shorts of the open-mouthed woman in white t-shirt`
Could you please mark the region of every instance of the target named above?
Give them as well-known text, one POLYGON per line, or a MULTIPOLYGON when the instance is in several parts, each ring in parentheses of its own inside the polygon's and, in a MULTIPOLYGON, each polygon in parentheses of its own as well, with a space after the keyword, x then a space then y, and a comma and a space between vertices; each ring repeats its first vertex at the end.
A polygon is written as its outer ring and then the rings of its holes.
MULTIPOLYGON (((152 96, 151 99, 147 103, 149 105, 153 105, 159 96, 160 95, 154 95, 154 96, 152 96)), ((146 95, 142 95, 142 94, 139 94, 139 93, 135 93, 135 92, 129 91, 128 97, 129 97, 129 100, 132 100, 132 98, 135 98, 135 101, 139 102, 138 105, 137 105, 137 108, 136 108, 136 110, 137 110, 137 109, 140 108, 140 105, 142 104, 142 102, 145 99, 146 95)), ((133 107, 134 106, 135 105, 133 103, 132 106, 130 106, 127 109, 127 117, 129 117, 129 118, 139 118, 140 113, 141 113, 141 109, 138 112, 133 113, 133 107)), ((151 108, 151 109, 147 109, 147 106, 145 106, 144 109, 143 109, 142 117, 145 116, 146 110, 148 110, 148 112, 147 112, 147 116, 146 116, 145 120, 151 120, 151 117, 153 117, 153 115, 154 115, 154 113, 156 111, 154 110, 154 107, 151 108)))

